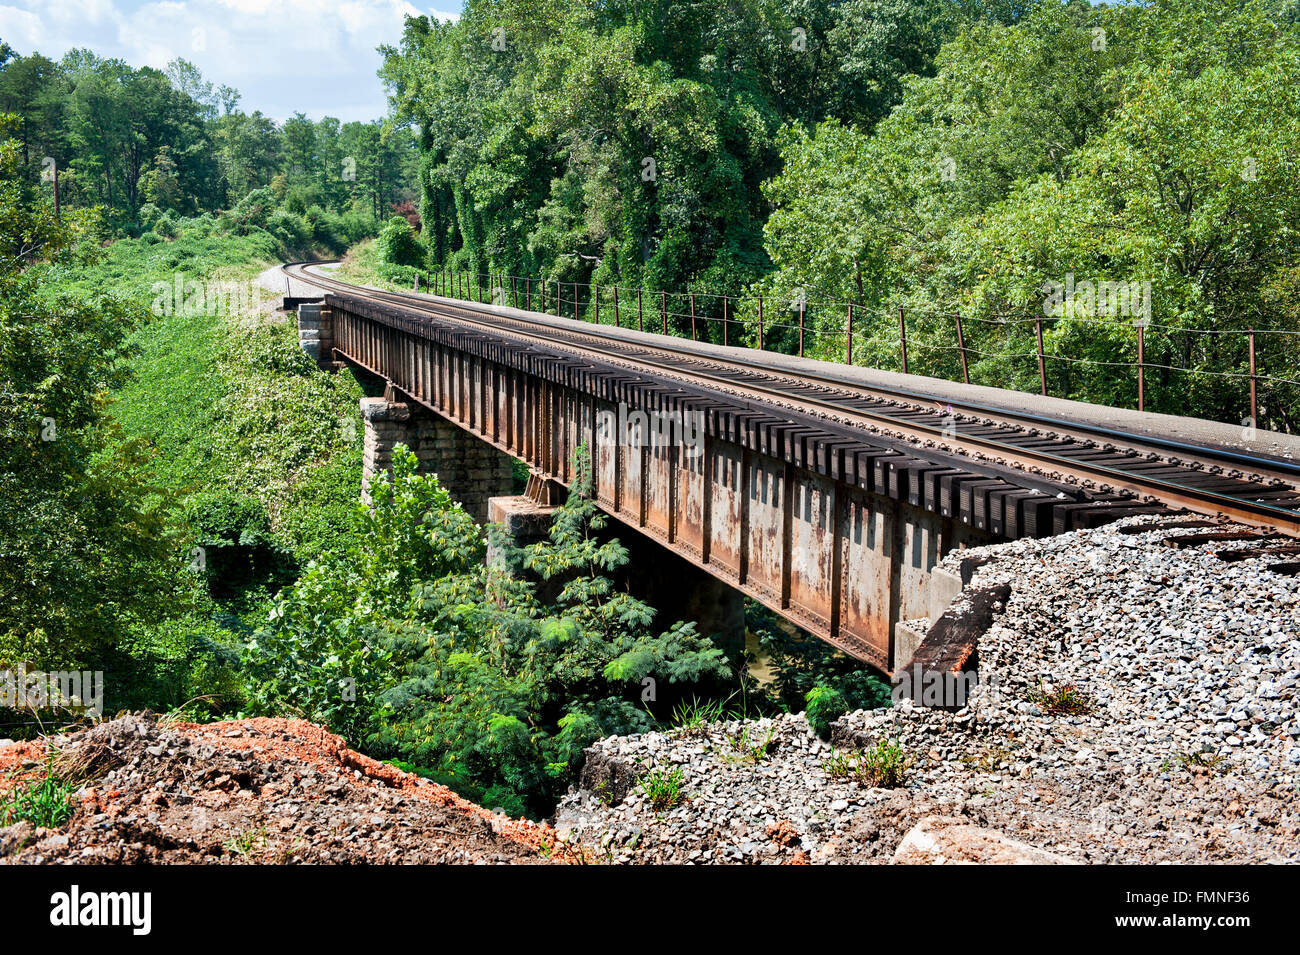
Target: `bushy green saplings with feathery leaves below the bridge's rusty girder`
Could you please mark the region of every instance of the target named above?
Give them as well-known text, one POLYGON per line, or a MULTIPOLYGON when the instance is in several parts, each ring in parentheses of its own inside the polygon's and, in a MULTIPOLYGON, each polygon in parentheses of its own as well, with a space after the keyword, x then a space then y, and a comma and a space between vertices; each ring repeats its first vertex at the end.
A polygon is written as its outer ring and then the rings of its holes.
POLYGON ((320 720, 485 804, 543 815, 586 746, 653 725, 644 676, 684 689, 729 677, 693 628, 655 634, 649 607, 612 592, 603 574, 627 552, 597 538, 589 498, 572 495, 550 539, 507 561, 564 578, 545 605, 485 564, 480 529, 398 447, 356 542, 274 602, 246 654, 255 709, 320 720))

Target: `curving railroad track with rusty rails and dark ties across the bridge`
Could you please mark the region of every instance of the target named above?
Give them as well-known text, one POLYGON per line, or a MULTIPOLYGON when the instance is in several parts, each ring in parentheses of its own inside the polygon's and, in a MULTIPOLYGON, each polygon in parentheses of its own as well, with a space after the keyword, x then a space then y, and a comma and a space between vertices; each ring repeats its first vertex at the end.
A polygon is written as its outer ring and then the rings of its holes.
MULTIPOLYGON (((647 385, 676 383, 684 391, 715 395, 846 438, 866 431, 872 442, 904 452, 901 459, 889 460, 887 476, 910 482, 911 494, 901 496, 933 505, 940 513, 957 513, 957 489, 961 479, 970 478, 966 472, 974 472, 993 481, 1014 476, 1014 483, 1028 494, 1088 507, 1101 518, 1108 504, 1123 513, 1190 511, 1261 528, 1265 534, 1300 537, 1300 464, 1277 455, 992 408, 920 390, 867 386, 812 370, 811 363, 807 373, 801 369, 793 374, 757 357, 701 353, 694 343, 663 335, 629 339, 572 320, 530 318, 438 296, 376 291, 308 268, 292 264, 285 270, 332 295, 396 305, 520 347, 599 361, 647 385)), ((1032 521, 1013 526, 1010 517, 993 520, 989 508, 983 509, 976 526, 985 526, 985 518, 989 530, 1008 537, 1046 531, 1032 521)), ((1058 517, 1056 531, 1065 529, 1069 526, 1058 517)))

